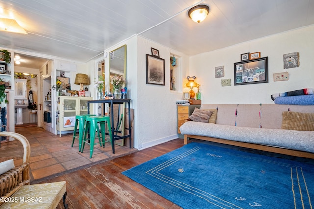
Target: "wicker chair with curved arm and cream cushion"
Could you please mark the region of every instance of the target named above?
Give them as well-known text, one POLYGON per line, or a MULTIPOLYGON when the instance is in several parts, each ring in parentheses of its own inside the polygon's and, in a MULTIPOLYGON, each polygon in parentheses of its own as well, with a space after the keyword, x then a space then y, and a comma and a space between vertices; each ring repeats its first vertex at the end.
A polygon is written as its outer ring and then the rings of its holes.
POLYGON ((12 137, 23 145, 23 163, 0 175, 0 208, 55 209, 66 198, 65 182, 30 184, 30 144, 26 137, 13 132, 0 132, 0 136, 12 137))

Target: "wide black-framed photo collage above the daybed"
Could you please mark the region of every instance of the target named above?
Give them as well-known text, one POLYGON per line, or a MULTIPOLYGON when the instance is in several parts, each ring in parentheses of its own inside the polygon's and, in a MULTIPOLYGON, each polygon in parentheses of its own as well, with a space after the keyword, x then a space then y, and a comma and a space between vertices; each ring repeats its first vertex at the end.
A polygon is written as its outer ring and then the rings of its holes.
POLYGON ((234 63, 235 86, 268 83, 268 57, 234 63))

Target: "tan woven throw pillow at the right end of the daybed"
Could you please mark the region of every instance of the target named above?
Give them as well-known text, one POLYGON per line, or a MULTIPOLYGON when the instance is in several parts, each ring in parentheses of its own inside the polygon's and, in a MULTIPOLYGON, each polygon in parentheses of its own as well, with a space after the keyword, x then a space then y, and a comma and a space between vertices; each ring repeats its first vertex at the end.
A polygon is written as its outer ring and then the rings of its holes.
POLYGON ((282 129, 314 131, 314 113, 283 112, 282 129))

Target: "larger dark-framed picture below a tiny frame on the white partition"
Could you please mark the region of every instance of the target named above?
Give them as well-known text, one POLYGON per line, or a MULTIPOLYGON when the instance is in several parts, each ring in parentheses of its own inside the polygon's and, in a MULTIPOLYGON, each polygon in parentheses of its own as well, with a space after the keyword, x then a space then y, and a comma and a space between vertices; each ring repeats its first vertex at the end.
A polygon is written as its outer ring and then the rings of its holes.
POLYGON ((146 54, 146 83, 165 85, 165 60, 146 54))

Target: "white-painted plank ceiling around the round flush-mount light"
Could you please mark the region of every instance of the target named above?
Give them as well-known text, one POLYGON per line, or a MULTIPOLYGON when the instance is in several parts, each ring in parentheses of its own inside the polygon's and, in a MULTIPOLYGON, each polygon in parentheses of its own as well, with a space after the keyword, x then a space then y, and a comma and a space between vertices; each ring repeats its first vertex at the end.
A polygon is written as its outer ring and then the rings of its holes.
POLYGON ((314 24, 313 11, 314 0, 0 0, 0 17, 28 33, 0 31, 0 49, 86 62, 140 34, 195 55, 314 24), (210 11, 195 23, 200 3, 210 11))

